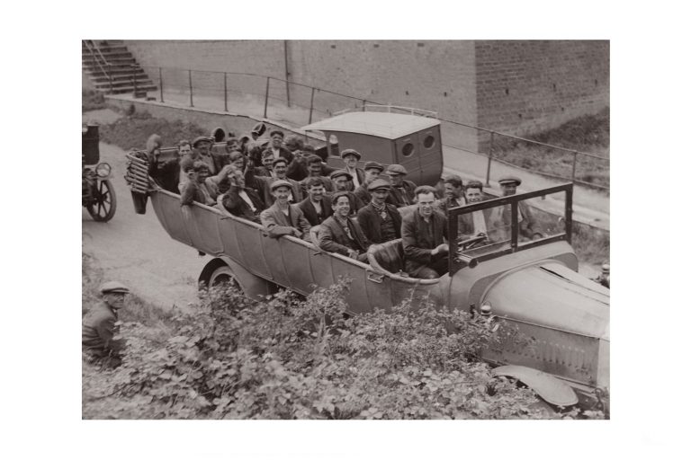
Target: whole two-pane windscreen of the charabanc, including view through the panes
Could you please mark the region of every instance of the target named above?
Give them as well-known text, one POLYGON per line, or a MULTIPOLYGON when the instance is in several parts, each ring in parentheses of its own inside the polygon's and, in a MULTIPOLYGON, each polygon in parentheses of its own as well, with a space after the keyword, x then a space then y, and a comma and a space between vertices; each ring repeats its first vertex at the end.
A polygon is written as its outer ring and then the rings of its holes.
POLYGON ((509 253, 570 243, 572 197, 569 183, 449 209, 449 275, 509 253))

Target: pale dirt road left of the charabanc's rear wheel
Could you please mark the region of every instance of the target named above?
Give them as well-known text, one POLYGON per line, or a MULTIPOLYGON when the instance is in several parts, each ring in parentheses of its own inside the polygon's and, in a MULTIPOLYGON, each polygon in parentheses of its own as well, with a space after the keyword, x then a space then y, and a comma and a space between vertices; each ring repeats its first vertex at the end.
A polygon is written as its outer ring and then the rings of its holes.
POLYGON ((110 222, 98 223, 82 209, 82 249, 94 255, 109 279, 125 283, 141 298, 162 307, 184 308, 196 299, 196 280, 209 256, 171 239, 150 204, 135 214, 123 179, 125 152, 101 143, 101 160, 112 166, 117 210, 110 222))

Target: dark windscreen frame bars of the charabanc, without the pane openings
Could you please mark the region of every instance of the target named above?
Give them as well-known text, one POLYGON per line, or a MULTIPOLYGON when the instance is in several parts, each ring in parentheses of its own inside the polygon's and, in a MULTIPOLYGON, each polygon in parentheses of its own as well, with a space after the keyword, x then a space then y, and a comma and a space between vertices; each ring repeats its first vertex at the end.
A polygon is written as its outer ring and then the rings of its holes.
POLYGON ((525 193, 516 193, 508 197, 499 197, 496 199, 487 199, 480 201, 479 203, 467 204, 464 206, 459 206, 456 208, 449 208, 447 225, 448 225, 448 235, 449 235, 449 276, 461 270, 464 267, 474 267, 480 261, 489 261, 491 259, 496 259, 506 254, 511 254, 514 252, 525 251, 526 249, 534 248, 536 246, 542 246, 544 244, 554 243, 557 241, 566 241, 571 243, 571 228, 572 228, 572 218, 573 218, 573 182, 564 183, 561 185, 556 185, 554 187, 548 187, 546 189, 529 191, 525 193), (559 234, 553 234, 552 236, 547 236, 540 238, 539 240, 534 240, 526 243, 518 242, 518 203, 524 201, 525 199, 533 199, 537 197, 545 197, 547 195, 552 195, 554 193, 565 192, 566 198, 564 199, 564 231, 559 234), (480 211, 489 208, 497 208, 499 206, 509 205, 511 208, 511 237, 510 237, 510 247, 499 249, 497 251, 490 251, 477 256, 469 256, 464 254, 464 252, 459 252, 458 250, 458 237, 452 238, 451 235, 458 234, 458 217, 464 214, 469 214, 474 211, 480 211))

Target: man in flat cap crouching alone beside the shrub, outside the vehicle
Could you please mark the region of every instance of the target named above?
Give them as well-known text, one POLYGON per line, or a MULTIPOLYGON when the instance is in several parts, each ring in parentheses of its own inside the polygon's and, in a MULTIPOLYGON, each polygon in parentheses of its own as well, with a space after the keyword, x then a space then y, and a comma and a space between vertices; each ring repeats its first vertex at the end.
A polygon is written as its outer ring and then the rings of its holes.
POLYGON ((130 289, 118 281, 108 281, 99 288, 103 300, 94 305, 82 319, 82 352, 86 358, 110 358, 106 364, 120 365, 119 352, 124 341, 113 340, 118 312, 130 289))

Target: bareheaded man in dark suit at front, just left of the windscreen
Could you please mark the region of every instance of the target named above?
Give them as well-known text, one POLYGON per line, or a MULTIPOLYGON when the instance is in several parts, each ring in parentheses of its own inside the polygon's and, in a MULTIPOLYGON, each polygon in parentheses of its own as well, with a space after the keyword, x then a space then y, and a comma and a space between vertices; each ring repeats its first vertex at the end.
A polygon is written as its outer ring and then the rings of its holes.
POLYGON ((400 230, 406 271, 413 278, 439 278, 448 271, 446 217, 435 209, 434 188, 422 185, 415 195, 417 209, 403 218, 400 230))

